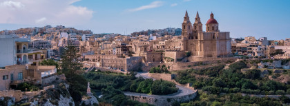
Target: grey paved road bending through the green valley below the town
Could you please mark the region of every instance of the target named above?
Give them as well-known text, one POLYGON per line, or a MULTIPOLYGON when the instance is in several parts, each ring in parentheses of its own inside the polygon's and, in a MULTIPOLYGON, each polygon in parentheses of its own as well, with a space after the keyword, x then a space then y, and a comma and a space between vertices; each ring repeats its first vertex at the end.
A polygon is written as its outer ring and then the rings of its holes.
MULTIPOLYGON (((142 73, 138 73, 136 75, 136 77, 142 76, 143 78, 151 78, 148 76, 148 72, 142 72, 142 73)), ((155 80, 153 78, 153 80, 155 80)), ((134 93, 134 92, 124 92, 125 95, 129 95, 129 96, 147 96, 147 97, 164 97, 164 98, 168 98, 168 97, 175 97, 175 96, 184 96, 184 95, 189 95, 189 94, 193 94, 195 91, 193 91, 192 89, 186 88, 186 87, 182 87, 180 85, 176 85, 176 87, 178 87, 178 92, 174 93, 174 94, 168 94, 168 95, 148 95, 148 94, 139 94, 139 93, 134 93)))

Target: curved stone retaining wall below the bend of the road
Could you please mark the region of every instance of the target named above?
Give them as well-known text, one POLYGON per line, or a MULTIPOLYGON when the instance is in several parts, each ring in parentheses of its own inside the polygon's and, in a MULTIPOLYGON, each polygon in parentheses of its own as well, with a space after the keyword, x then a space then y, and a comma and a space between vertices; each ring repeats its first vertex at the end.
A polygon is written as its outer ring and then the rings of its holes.
POLYGON ((131 100, 137 100, 141 103, 149 103, 152 105, 157 106, 164 106, 164 105, 171 105, 172 103, 184 103, 190 100, 193 100, 197 95, 197 91, 193 92, 192 94, 185 95, 185 96, 175 96, 175 97, 148 97, 148 96, 128 96, 131 100))

